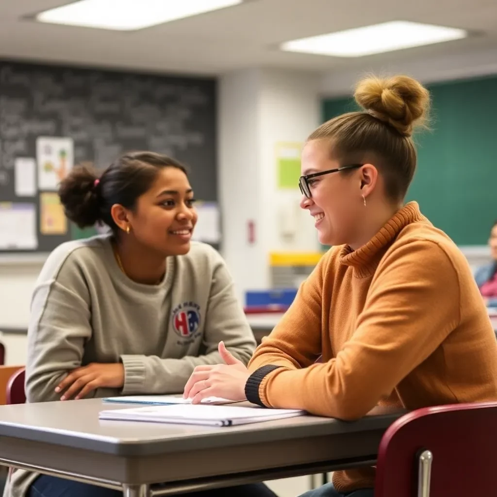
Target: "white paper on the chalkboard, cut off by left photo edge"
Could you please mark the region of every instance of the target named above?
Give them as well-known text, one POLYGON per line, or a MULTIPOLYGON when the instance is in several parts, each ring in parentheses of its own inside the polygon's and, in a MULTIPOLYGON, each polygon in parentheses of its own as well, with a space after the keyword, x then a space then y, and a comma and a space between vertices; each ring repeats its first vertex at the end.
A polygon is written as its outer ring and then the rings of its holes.
POLYGON ((35 204, 0 202, 0 250, 35 250, 35 204))

